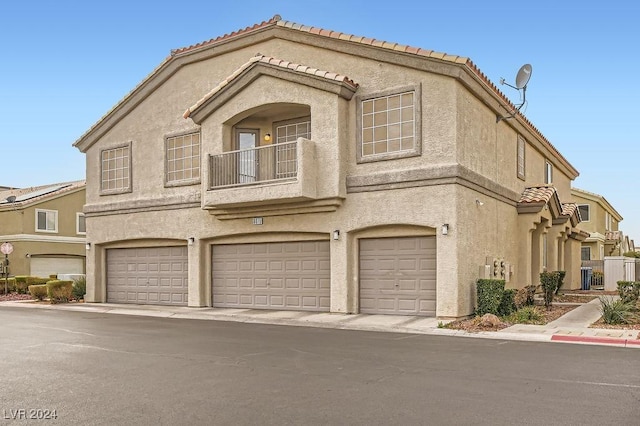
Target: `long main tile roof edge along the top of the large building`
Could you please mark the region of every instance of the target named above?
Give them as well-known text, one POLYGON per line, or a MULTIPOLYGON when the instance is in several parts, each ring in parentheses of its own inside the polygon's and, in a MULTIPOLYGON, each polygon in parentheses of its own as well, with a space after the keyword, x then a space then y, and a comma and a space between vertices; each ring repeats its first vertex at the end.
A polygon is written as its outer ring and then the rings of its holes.
POLYGON ((562 159, 569 167, 572 169, 575 174, 578 174, 578 171, 571 166, 571 164, 564 158, 562 154, 551 144, 551 142, 519 111, 516 106, 498 89, 498 87, 493 84, 489 78, 482 72, 480 69, 467 57, 457 56, 457 55, 449 55, 441 52, 434 52, 432 50, 425 50, 418 47, 401 45, 398 43, 390 43, 382 40, 376 40, 367 37, 355 36, 351 34, 346 34, 342 32, 327 30, 323 28, 311 27, 307 25, 296 24, 294 22, 285 21, 282 19, 280 15, 274 15, 268 21, 262 21, 259 24, 255 24, 253 26, 245 27, 243 29, 212 38, 207 41, 203 41, 201 43, 197 43, 191 46, 182 47, 179 49, 171 50, 171 54, 168 58, 166 58, 156 69, 153 70, 151 74, 149 74, 143 81, 141 81, 133 90, 131 90, 118 104, 116 104, 111 110, 109 110, 98 122, 96 122, 89 130, 87 130, 75 143, 75 146, 78 144, 89 134, 93 129, 95 129, 102 121, 106 120, 106 118, 114 113, 120 105, 122 105, 130 96, 132 96, 138 88, 142 87, 147 81, 149 81, 160 69, 165 67, 169 62, 171 62, 174 58, 179 57, 183 54, 187 54, 193 51, 197 51, 200 49, 206 49, 211 46, 215 46, 221 43, 226 43, 236 37, 241 37, 253 32, 258 32, 265 30, 270 27, 282 27, 287 28, 294 31, 306 32, 309 34, 318 35, 321 37, 328 37, 337 40, 348 41, 352 43, 358 43, 363 45, 370 45, 381 49, 393 50, 400 53, 406 53, 415 56, 428 57, 433 59, 438 59, 450 63, 455 63, 459 65, 466 66, 472 73, 474 73, 478 79, 484 83, 491 91, 493 91, 501 100, 504 102, 512 111, 515 111, 515 115, 519 116, 527 126, 529 126, 530 130, 538 135, 548 146, 548 148, 555 153, 558 158, 562 159))

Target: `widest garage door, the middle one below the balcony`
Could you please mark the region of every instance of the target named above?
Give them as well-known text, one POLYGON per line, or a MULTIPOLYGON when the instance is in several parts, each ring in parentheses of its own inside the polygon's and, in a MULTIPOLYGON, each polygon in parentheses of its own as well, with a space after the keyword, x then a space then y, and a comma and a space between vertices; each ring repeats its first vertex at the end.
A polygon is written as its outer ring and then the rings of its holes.
POLYGON ((328 311, 328 241, 213 246, 213 306, 328 311))

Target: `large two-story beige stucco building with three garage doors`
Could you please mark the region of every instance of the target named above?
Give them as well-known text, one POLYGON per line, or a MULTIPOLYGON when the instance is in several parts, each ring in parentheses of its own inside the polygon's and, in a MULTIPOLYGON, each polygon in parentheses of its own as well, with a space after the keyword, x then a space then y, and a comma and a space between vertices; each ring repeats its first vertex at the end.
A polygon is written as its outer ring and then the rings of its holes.
POLYGON ((578 172, 513 111, 467 58, 279 16, 174 50, 74 144, 86 300, 461 317, 479 276, 579 287, 578 172))

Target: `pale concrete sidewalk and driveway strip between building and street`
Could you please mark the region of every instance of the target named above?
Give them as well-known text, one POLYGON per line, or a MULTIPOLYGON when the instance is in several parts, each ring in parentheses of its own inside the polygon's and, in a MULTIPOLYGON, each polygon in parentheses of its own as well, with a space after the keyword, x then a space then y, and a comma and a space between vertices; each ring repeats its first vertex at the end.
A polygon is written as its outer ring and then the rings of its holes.
POLYGON ((589 328, 600 318, 598 299, 585 303, 546 325, 516 324, 500 331, 471 333, 441 328, 448 321, 399 315, 336 314, 325 312, 271 311, 257 309, 189 308, 113 303, 42 304, 21 300, 0 302, 26 309, 58 309, 116 315, 138 315, 194 320, 235 321, 257 324, 321 327, 343 330, 432 334, 488 339, 566 342, 640 348, 640 330, 589 328))

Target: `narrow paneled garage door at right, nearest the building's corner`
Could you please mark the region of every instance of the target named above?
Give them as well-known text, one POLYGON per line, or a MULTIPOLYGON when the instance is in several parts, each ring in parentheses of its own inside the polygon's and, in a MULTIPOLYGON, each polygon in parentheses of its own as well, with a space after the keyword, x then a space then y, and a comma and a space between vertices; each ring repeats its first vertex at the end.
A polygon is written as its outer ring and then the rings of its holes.
POLYGON ((436 238, 360 240, 360 312, 436 314, 436 238))

